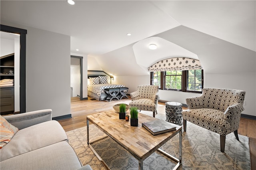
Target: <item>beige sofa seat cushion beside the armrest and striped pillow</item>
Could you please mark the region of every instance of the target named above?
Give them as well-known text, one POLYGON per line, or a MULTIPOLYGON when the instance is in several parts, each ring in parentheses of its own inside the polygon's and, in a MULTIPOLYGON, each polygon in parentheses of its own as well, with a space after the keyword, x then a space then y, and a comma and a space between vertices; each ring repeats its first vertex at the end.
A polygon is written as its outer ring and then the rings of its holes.
POLYGON ((0 161, 67 139, 66 132, 57 121, 39 123, 19 130, 0 150, 0 161))

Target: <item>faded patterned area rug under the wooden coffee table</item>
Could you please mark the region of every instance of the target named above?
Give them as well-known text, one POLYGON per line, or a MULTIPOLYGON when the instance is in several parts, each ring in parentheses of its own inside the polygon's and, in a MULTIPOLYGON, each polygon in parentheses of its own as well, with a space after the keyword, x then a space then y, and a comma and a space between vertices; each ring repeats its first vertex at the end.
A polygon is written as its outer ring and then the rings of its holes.
MULTIPOLYGON (((89 130, 90 142, 106 136, 94 125, 90 125, 89 130)), ((86 127, 68 131, 67 135, 83 165, 90 164, 94 170, 105 169, 87 145, 86 127)), ((233 133, 228 134, 225 153, 222 153, 218 134, 187 122, 187 132, 182 133, 182 166, 179 170, 250 170, 248 137, 239 135, 239 140, 233 133)), ((138 170, 138 160, 111 138, 104 138, 92 146, 111 170, 138 170)), ((176 158, 178 148, 178 134, 161 147, 176 158)), ((175 164, 160 152, 154 152, 144 160, 144 169, 170 170, 175 164)))

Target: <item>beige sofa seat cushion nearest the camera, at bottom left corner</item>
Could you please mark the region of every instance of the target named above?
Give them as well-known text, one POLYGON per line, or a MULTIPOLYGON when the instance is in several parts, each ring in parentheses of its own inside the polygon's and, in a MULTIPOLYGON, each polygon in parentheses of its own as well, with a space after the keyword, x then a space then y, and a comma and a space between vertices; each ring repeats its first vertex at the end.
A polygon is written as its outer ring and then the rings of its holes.
POLYGON ((38 148, 0 163, 1 170, 76 170, 82 167, 67 141, 38 148))

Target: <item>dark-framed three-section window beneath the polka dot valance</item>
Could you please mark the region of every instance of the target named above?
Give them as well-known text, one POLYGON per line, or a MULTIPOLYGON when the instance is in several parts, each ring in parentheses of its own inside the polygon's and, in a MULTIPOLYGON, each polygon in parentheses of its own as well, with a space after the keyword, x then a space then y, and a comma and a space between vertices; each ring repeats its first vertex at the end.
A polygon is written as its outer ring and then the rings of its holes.
POLYGON ((151 72, 151 85, 158 85, 164 90, 202 93, 203 75, 201 69, 156 71, 151 72))

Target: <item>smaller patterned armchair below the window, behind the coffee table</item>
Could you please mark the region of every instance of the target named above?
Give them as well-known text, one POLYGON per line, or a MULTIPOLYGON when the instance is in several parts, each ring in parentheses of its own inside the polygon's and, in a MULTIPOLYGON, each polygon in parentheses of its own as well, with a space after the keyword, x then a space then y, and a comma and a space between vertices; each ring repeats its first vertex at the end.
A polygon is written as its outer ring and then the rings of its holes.
POLYGON ((153 117, 157 114, 158 104, 158 86, 156 85, 139 85, 137 91, 130 93, 132 101, 130 107, 137 107, 142 111, 152 111, 153 117))

